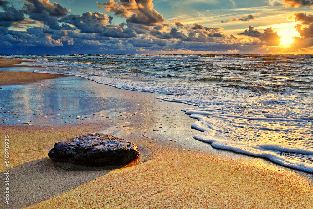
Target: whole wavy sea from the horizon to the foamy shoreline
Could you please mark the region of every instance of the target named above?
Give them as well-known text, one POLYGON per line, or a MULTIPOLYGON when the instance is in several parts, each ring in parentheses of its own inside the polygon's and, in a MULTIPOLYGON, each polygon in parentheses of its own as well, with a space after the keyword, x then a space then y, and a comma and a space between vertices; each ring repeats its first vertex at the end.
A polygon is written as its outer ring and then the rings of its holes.
MULTIPOLYGON (((10 55, 120 89, 193 105, 195 140, 313 172, 313 55, 10 55)), ((183 120, 183 119, 182 119, 183 120)))

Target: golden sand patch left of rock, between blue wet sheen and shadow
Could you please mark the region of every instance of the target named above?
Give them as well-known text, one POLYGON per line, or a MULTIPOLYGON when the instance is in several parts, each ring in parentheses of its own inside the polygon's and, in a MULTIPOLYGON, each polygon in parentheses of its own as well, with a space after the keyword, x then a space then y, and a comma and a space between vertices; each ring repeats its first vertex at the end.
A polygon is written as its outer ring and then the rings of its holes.
MULTIPOLYGON (((4 136, 10 139, 10 167, 16 167, 23 163, 35 161, 47 157, 49 150, 56 142, 68 140, 70 138, 90 134, 97 130, 95 125, 76 125, 50 127, 0 126, 0 133, 3 140, 0 146, 4 147, 4 136)), ((4 161, 4 155, 0 156, 0 161, 4 161)), ((3 164, 1 170, 3 170, 3 164)))

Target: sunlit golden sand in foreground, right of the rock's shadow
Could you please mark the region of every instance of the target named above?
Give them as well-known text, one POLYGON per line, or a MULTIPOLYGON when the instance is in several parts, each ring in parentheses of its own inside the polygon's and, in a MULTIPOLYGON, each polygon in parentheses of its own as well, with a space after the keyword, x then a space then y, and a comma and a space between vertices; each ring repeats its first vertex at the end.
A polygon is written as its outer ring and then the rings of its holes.
POLYGON ((292 171, 132 142, 156 157, 28 208, 312 208, 312 187, 292 171))

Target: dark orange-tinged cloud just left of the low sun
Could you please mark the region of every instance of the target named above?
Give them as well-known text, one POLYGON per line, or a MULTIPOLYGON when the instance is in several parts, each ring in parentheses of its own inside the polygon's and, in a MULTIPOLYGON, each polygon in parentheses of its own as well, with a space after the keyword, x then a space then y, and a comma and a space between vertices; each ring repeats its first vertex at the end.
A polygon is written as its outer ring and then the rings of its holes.
POLYGON ((270 46, 279 45, 281 38, 279 35, 277 35, 277 31, 274 31, 272 27, 265 29, 264 33, 261 33, 258 30, 254 29, 253 26, 249 26, 249 28, 246 29, 244 32, 237 34, 259 38, 261 41, 265 41, 270 46))

